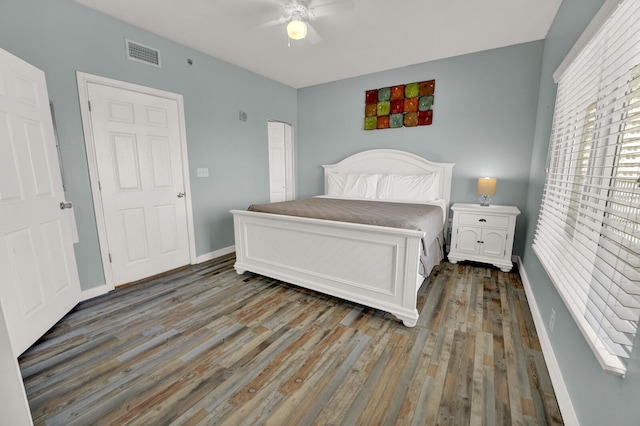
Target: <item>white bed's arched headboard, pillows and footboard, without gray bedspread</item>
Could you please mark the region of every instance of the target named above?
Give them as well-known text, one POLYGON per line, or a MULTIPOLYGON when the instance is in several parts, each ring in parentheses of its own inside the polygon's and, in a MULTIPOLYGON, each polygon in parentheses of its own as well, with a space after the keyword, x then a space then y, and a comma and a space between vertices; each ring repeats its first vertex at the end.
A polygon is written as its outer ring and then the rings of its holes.
POLYGON ((363 151, 322 166, 325 194, 314 198, 327 199, 324 204, 355 201, 391 211, 395 204, 424 205, 437 210, 439 219, 431 220, 429 229, 406 229, 265 213, 252 205, 231 211, 234 268, 380 309, 413 327, 417 292, 444 257, 453 166, 392 149, 363 151))

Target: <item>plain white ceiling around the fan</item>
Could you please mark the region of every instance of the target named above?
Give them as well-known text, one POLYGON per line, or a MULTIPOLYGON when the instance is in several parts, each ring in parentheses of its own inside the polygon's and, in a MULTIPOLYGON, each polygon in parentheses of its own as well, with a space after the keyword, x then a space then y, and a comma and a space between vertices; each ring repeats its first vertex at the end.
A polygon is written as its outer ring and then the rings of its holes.
POLYGON ((543 39, 562 0, 310 0, 316 43, 288 40, 283 0, 75 1, 301 88, 543 39))

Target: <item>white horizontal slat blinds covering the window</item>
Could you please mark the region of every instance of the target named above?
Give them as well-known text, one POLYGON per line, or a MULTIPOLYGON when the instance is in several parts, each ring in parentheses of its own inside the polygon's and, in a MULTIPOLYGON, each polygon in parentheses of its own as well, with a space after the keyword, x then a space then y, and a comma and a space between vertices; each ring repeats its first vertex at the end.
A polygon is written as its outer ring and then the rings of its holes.
POLYGON ((640 2, 621 1, 557 82, 533 248, 602 367, 624 375, 640 319, 640 2))

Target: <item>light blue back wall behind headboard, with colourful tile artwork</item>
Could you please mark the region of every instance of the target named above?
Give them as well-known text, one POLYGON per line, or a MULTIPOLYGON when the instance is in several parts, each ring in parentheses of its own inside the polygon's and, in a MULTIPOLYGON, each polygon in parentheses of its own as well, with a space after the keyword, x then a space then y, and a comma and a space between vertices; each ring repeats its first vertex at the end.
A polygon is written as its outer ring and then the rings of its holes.
MULTIPOLYGON (((456 163, 452 202, 478 202, 478 177, 492 176, 498 179, 493 203, 524 212, 542 50, 538 41, 298 90, 299 194, 323 191, 321 164, 394 148, 456 163), (363 130, 366 90, 431 79, 432 125, 363 130)), ((517 255, 528 220, 524 213, 518 217, 517 255)))

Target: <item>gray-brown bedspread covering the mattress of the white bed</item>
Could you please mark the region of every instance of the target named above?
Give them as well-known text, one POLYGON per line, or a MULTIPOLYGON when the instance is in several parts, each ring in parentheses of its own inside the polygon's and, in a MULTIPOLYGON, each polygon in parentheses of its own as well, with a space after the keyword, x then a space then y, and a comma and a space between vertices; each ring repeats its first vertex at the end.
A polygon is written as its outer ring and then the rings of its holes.
POLYGON ((425 233, 422 238, 424 256, 428 256, 427 247, 439 237, 443 228, 442 209, 428 204, 318 197, 280 203, 252 204, 248 210, 423 231, 425 233))

